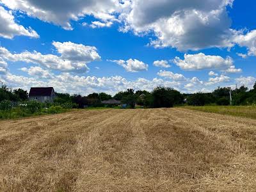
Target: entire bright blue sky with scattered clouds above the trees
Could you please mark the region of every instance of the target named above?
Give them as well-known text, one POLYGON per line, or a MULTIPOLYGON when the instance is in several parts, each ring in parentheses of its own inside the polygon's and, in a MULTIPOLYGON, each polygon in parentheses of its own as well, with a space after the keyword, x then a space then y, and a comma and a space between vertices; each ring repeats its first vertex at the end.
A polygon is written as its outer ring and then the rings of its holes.
POLYGON ((114 95, 256 81, 253 0, 0 0, 0 81, 114 95))

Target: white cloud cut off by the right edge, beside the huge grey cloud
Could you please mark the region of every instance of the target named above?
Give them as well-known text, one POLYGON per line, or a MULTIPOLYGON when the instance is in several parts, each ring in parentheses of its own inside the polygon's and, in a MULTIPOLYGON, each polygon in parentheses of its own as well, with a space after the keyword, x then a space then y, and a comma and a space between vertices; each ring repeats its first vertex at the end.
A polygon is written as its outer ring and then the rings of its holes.
POLYGON ((247 47, 249 56, 256 56, 256 30, 248 32, 246 35, 238 34, 234 38, 241 47, 247 47))

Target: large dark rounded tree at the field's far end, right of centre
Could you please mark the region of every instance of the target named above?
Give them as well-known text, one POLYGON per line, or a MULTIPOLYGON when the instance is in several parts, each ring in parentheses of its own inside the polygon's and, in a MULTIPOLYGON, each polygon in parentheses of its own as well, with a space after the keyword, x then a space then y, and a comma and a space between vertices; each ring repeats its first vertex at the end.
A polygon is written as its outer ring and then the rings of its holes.
POLYGON ((182 95, 173 88, 157 87, 152 92, 154 108, 172 108, 182 101, 182 95))

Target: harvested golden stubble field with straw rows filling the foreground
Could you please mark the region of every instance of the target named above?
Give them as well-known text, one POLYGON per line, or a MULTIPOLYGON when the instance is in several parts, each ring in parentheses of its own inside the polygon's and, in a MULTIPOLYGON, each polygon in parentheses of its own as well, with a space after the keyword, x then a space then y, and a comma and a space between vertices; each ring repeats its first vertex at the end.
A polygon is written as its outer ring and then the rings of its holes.
POLYGON ((256 120, 184 108, 0 122, 0 191, 255 191, 256 120))

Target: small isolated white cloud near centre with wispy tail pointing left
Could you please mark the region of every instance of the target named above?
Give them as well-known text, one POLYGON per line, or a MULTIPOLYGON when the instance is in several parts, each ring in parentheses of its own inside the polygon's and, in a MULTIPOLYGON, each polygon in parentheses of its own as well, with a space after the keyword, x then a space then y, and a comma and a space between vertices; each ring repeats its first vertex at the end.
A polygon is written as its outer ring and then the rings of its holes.
POLYGON ((148 65, 139 60, 129 59, 127 61, 124 60, 108 60, 118 65, 122 66, 127 70, 127 72, 140 72, 148 70, 148 65))

